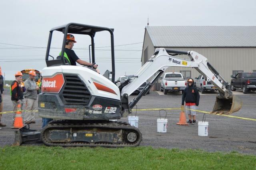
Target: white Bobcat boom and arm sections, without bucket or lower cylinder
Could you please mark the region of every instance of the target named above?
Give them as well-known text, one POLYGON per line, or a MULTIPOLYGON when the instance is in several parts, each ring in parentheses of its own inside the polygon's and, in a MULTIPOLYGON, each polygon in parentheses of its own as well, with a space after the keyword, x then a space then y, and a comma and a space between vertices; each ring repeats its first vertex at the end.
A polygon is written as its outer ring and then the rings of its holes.
POLYGON ((168 67, 193 67, 202 75, 208 77, 222 93, 225 93, 225 87, 223 87, 222 83, 216 77, 216 73, 208 67, 207 63, 208 59, 196 51, 176 51, 166 50, 164 48, 156 49, 156 53, 154 53, 134 77, 132 77, 130 83, 122 89, 121 96, 125 93, 128 95, 132 94, 134 90, 157 71, 165 71, 168 67), (175 55, 188 55, 189 59, 182 59, 175 57, 175 55))

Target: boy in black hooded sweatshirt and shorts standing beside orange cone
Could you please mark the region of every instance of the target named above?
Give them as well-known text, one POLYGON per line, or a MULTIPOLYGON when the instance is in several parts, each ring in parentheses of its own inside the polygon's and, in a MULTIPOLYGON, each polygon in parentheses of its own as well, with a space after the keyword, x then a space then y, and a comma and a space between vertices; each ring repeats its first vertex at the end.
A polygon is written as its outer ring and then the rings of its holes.
POLYGON ((186 114, 188 114, 189 118, 188 124, 196 125, 196 111, 194 110, 196 110, 196 107, 199 105, 199 99, 200 94, 198 89, 194 87, 194 80, 190 78, 188 79, 188 86, 184 89, 181 102, 182 111, 184 110, 184 101, 186 102, 186 114))

